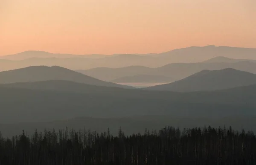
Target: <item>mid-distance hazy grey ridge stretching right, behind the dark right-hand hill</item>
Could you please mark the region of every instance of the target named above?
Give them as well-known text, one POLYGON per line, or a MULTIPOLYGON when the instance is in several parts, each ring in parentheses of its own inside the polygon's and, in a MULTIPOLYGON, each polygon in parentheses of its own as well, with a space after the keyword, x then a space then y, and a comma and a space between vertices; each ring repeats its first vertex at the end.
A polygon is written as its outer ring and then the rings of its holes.
POLYGON ((88 70, 76 70, 85 75, 98 78, 104 81, 112 81, 113 79, 134 75, 161 75, 171 77, 177 81, 186 78, 201 70, 220 70, 225 68, 233 68, 241 71, 256 73, 256 63, 251 61, 239 62, 218 62, 218 63, 173 63, 158 68, 148 68, 142 66, 131 66, 123 68, 95 68, 88 70))

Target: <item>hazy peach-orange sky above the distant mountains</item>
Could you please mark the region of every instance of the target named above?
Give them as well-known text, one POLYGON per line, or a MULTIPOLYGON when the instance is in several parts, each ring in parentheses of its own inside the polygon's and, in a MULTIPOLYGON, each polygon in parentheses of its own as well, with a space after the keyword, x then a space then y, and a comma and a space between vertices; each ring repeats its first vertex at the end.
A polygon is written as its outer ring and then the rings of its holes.
POLYGON ((0 55, 256 47, 256 0, 0 0, 0 55))

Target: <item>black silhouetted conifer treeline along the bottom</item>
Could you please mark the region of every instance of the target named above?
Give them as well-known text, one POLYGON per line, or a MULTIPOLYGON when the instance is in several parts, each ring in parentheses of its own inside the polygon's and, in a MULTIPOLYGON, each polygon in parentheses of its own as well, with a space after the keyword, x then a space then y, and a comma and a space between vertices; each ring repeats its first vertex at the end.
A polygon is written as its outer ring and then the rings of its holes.
POLYGON ((113 137, 58 130, 0 136, 0 165, 255 165, 256 137, 244 130, 165 127, 113 137))

